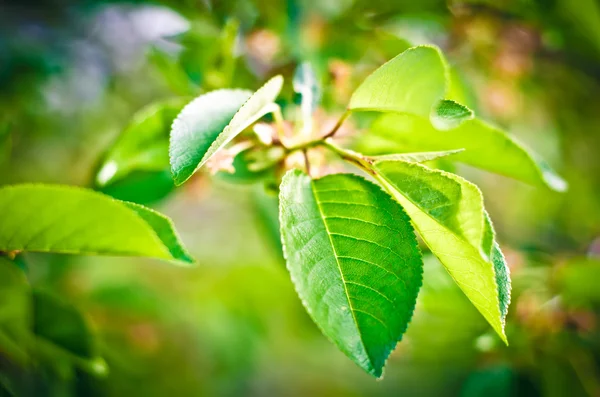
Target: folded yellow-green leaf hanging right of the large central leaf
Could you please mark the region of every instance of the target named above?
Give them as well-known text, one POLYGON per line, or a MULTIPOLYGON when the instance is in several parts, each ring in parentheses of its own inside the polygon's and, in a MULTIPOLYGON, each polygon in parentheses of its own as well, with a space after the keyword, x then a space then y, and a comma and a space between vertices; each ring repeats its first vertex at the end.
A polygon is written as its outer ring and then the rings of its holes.
POLYGON ((431 252, 506 342, 502 310, 506 302, 499 291, 510 290, 510 284, 506 285, 505 275, 496 274, 502 254, 489 242, 493 230, 479 189, 457 175, 416 163, 383 161, 374 169, 397 192, 394 197, 431 252))

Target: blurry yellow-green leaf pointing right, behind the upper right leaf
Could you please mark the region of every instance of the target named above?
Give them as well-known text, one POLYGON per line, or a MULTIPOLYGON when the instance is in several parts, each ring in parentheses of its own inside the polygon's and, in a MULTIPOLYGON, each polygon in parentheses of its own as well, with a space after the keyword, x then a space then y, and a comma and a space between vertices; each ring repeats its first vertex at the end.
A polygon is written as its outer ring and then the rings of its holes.
POLYGON ((544 160, 504 131, 479 119, 440 131, 421 117, 387 114, 373 123, 370 134, 359 143, 360 150, 372 154, 460 148, 465 151, 455 154, 455 161, 556 191, 567 188, 544 160))

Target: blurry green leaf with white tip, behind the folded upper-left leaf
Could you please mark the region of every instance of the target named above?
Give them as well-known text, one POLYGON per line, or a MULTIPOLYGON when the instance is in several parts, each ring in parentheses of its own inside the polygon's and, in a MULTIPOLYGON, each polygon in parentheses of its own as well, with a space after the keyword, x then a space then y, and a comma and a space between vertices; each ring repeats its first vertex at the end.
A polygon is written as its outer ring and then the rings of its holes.
POLYGON ((137 112, 107 151, 96 175, 98 186, 112 184, 133 171, 168 169, 169 131, 184 105, 185 100, 177 98, 148 105, 137 112))

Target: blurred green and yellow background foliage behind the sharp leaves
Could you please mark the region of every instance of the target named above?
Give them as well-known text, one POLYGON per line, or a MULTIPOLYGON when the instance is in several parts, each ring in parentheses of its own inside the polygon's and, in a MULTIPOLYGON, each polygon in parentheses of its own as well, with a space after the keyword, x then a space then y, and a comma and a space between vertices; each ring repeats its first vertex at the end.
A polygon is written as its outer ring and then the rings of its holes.
POLYGON ((65 354, 28 367, 0 340, 0 395, 600 396, 598 92, 597 0, 2 1, 0 184, 80 185, 150 205, 172 217, 198 266, 19 258, 29 283, 85 324, 55 346, 65 354), (376 381, 305 313, 261 184, 200 173, 175 189, 168 171, 95 184, 148 104, 256 89, 280 73, 285 106, 306 61, 326 120, 369 72, 423 43, 444 50, 480 116, 570 185, 554 193, 456 170, 481 187, 511 268, 508 347, 426 255, 412 324, 376 381), (74 357, 78 337, 106 369, 74 357))

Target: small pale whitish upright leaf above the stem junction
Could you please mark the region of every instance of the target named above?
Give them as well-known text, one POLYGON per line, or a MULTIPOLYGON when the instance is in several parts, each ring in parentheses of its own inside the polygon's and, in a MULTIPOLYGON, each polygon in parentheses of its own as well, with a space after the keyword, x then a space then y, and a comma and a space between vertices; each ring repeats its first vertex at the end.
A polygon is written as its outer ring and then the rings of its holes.
POLYGON ((313 113, 321 101, 321 87, 310 63, 298 65, 292 84, 294 91, 300 95, 301 118, 298 124, 304 133, 309 134, 312 132, 313 113))

